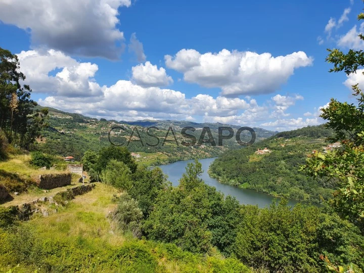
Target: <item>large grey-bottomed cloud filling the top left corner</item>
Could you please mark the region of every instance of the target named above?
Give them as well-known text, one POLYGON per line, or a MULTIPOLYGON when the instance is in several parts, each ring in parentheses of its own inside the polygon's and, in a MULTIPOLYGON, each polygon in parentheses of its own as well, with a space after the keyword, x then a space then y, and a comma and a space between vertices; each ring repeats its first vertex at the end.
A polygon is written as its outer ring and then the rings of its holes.
POLYGON ((130 5, 131 0, 0 0, 0 21, 29 30, 35 46, 116 59, 124 39, 118 9, 130 5))

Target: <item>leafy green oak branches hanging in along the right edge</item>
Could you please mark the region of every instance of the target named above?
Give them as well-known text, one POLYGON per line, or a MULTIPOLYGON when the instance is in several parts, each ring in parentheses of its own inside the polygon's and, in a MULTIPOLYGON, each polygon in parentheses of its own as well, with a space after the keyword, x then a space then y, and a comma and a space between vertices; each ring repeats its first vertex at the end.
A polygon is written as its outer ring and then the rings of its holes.
MULTIPOLYGON (((364 14, 358 15, 358 20, 364 14)), ((364 40, 364 35, 359 38, 364 40)), ((347 75, 364 73, 364 52, 349 50, 343 53, 338 49, 329 50, 326 61, 334 68, 330 72, 344 71, 347 75)), ((341 103, 331 99, 323 109, 322 118, 328 120, 327 126, 334 129, 333 140, 340 140, 344 148, 333 152, 312 156, 302 168, 312 176, 336 177, 339 190, 331 201, 333 209, 343 218, 360 226, 364 232, 364 93, 358 84, 352 86, 357 104, 341 103)))

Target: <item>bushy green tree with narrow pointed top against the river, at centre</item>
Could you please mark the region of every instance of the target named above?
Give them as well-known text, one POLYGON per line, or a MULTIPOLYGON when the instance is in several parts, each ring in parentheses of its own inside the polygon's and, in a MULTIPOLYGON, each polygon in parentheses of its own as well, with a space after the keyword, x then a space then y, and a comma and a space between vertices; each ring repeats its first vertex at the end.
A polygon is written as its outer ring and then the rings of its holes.
POLYGON ((149 238, 173 242, 192 252, 211 251, 207 187, 198 177, 201 163, 189 163, 178 187, 168 187, 156 200, 155 209, 144 224, 149 238))

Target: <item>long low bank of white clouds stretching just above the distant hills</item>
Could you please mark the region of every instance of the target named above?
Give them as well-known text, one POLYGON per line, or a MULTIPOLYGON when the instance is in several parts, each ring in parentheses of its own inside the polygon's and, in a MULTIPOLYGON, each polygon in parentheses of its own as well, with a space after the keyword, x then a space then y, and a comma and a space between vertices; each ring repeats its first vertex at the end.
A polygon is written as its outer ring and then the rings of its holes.
POLYGON ((40 105, 97 118, 194 120, 200 117, 207 122, 261 126, 287 116, 288 108, 303 99, 300 95, 276 95, 258 104, 249 96, 240 99, 198 94, 187 98, 178 90, 151 86, 168 83, 169 79, 163 68, 150 62, 135 66, 131 80, 101 85, 95 79, 96 64, 79 62, 60 51, 23 51, 18 56, 21 71, 27 76, 26 83, 35 93, 47 94, 38 100, 40 105))

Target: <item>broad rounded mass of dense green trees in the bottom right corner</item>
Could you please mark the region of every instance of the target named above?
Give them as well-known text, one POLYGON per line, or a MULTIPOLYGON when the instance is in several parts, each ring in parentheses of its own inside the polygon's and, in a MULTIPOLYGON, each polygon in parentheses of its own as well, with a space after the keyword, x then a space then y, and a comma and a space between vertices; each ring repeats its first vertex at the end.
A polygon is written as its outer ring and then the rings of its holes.
POLYGON ((324 272, 328 265, 364 266, 364 238, 356 226, 313 206, 244 206, 234 244, 249 266, 272 272, 324 272))

